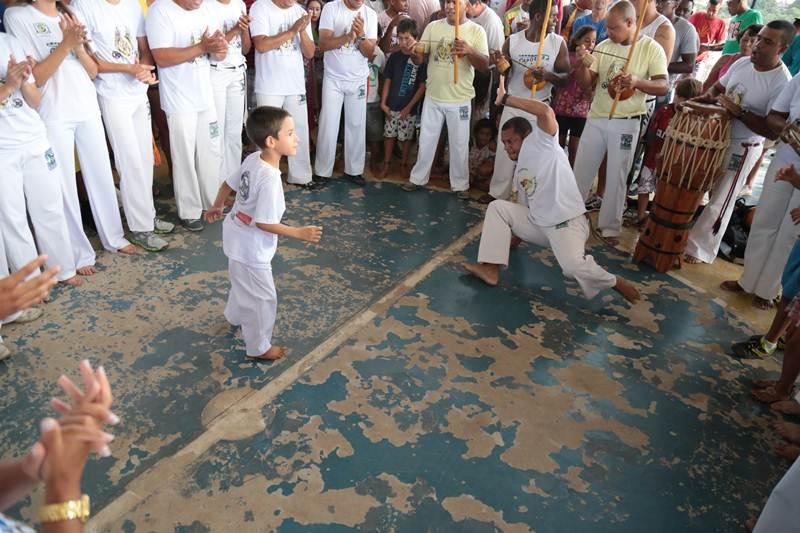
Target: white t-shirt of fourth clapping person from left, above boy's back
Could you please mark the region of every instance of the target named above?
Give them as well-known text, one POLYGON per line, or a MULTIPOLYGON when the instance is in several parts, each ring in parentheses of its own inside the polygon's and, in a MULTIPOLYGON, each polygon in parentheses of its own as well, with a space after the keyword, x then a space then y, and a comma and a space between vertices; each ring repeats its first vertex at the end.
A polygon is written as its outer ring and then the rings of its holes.
MULTIPOLYGON (((205 2, 197 9, 186 10, 173 0, 151 5, 145 26, 151 50, 188 48, 202 40, 206 29, 209 35, 220 29, 205 2)), ((166 113, 201 112, 214 106, 208 55, 159 68, 158 77, 161 108, 166 113)))

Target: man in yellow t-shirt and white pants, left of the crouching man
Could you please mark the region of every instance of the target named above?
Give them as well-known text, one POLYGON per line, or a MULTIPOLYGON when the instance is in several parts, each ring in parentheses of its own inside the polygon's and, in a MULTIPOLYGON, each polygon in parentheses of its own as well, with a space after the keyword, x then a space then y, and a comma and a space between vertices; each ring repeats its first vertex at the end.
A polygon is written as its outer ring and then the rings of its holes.
POLYGON ((425 27, 418 42, 409 40, 403 53, 421 65, 428 63, 428 80, 419 134, 417 162, 411 169, 411 179, 403 190, 414 191, 428 183, 431 166, 439 143, 442 125, 447 124, 447 142, 450 148, 450 188, 459 198, 469 199, 469 136, 472 99, 475 88, 472 81, 475 69, 489 71, 489 44, 486 32, 478 24, 467 20, 466 0, 447 0, 446 18, 431 22, 425 27), (456 20, 456 2, 460 2, 460 20, 456 20), (459 38, 456 39, 456 24, 459 38), (458 83, 453 80, 453 65, 458 69, 458 83))

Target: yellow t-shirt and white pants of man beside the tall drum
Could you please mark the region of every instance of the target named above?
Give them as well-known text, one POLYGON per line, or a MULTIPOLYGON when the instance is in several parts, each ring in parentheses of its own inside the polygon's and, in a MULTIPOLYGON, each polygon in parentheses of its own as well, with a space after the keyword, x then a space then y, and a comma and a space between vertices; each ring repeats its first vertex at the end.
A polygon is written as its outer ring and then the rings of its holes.
MULTIPOLYGON (((621 100, 614 118, 609 119, 614 99, 608 94, 608 81, 622 72, 629 46, 606 39, 595 50, 598 54, 594 56, 591 71, 597 74, 597 85, 575 156, 575 179, 581 195, 588 198, 603 158, 607 157, 606 190, 597 226, 603 236, 617 237, 622 231, 627 177, 633 165, 641 120, 647 113, 646 95, 636 91, 627 100, 621 100)), ((629 72, 641 79, 666 78, 664 49, 650 37, 640 38, 629 72)))

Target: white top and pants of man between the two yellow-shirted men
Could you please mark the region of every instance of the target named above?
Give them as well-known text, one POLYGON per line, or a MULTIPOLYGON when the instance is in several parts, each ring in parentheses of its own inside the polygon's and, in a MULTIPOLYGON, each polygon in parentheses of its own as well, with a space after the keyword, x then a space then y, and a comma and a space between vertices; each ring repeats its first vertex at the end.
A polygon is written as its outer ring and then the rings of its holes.
MULTIPOLYGON (((530 98, 531 90, 525 86, 525 72, 536 65, 536 57, 539 54, 539 43, 532 43, 525 35, 526 32, 517 32, 508 38, 508 52, 511 56, 511 75, 508 77, 508 94, 520 98, 530 98)), ((558 52, 564 43, 564 38, 557 33, 550 33, 544 39, 541 66, 547 71, 553 72, 558 52)), ((542 102, 550 102, 553 85, 546 83, 544 87, 536 91, 535 98, 542 102)), ((503 125, 513 117, 525 117, 536 127, 536 117, 522 111, 521 109, 505 106, 500 116, 500 130, 503 125)), ((502 146, 500 134, 497 136, 497 146, 502 146)), ((511 194, 514 178, 514 162, 508 158, 505 150, 497 150, 494 158, 494 173, 489 185, 489 194, 493 198, 505 200, 511 194)))

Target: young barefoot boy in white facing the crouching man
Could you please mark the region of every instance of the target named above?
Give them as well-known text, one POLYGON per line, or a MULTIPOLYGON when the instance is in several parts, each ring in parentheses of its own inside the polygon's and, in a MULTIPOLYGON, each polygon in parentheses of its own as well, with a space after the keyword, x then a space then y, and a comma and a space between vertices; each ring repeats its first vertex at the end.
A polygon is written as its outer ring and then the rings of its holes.
POLYGON ((222 218, 222 207, 231 193, 236 201, 222 226, 222 246, 228 256, 231 292, 225 318, 242 327, 247 357, 272 361, 286 355, 286 348, 272 344, 278 298, 272 279, 272 258, 278 235, 317 243, 322 228, 281 224, 285 211, 281 157, 294 155, 299 141, 294 121, 284 109, 258 107, 247 118, 247 136, 261 151, 244 160, 217 193, 206 221, 222 218))

